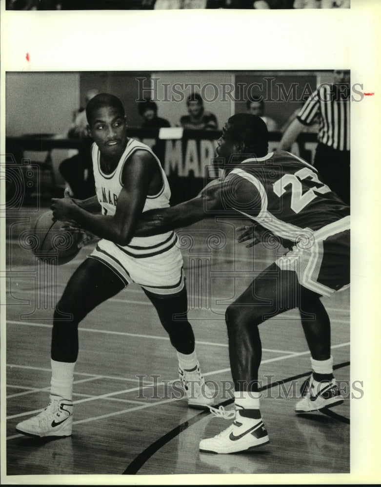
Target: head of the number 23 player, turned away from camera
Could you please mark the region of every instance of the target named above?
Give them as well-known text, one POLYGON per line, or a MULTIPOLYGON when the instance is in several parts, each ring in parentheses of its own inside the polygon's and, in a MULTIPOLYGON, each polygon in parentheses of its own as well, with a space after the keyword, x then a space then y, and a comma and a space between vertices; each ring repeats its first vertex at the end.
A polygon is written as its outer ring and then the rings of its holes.
POLYGON ((233 155, 263 157, 268 150, 268 131, 263 120, 251 113, 236 113, 222 129, 217 155, 229 162, 233 155))

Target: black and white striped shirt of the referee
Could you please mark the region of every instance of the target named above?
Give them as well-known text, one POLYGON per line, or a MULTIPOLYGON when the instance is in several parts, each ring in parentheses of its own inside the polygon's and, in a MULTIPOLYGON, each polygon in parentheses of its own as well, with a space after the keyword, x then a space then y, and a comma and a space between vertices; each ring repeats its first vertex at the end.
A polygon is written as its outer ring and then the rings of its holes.
POLYGON ((297 115, 303 125, 311 125, 318 117, 318 141, 336 150, 350 150, 350 96, 347 91, 343 86, 340 90, 337 85, 324 83, 297 115))

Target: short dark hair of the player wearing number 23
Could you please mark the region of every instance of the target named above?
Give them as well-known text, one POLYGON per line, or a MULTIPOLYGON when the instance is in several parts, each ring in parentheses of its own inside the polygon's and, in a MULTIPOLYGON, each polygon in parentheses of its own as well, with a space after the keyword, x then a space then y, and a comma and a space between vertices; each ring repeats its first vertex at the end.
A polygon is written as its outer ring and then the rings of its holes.
POLYGON ((268 130, 261 117, 252 113, 236 113, 227 121, 229 136, 235 142, 243 142, 246 151, 263 157, 268 151, 268 130))

